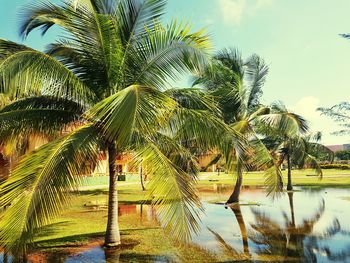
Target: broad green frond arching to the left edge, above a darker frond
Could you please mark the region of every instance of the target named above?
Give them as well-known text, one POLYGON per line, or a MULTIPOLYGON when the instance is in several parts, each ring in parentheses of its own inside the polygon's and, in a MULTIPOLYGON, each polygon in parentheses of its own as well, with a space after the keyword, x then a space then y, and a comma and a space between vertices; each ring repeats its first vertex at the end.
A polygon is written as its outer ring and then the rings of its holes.
POLYGON ((51 95, 91 103, 95 94, 68 68, 40 51, 0 40, 1 92, 17 97, 51 95))

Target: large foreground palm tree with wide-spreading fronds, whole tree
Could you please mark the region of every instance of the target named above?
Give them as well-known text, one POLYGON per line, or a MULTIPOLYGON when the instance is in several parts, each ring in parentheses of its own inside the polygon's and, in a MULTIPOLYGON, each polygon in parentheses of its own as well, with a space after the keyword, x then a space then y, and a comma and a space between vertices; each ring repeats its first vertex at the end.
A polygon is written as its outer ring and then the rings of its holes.
POLYGON ((56 26, 63 38, 46 52, 0 41, 0 91, 17 98, 0 111, 1 140, 68 133, 26 155, 1 185, 2 205, 11 204, 0 226, 8 250, 26 250, 35 231, 69 202, 86 163, 96 164, 104 151, 110 178, 107 247, 121 242, 116 160, 125 151, 135 152, 136 166, 147 166, 149 194, 162 205, 159 215, 171 234, 188 239, 197 229, 200 201, 187 173, 195 161, 181 143, 214 147, 230 129, 208 107, 182 107, 164 91, 169 79, 205 65, 209 44, 189 24, 173 20, 163 26, 165 4, 47 1, 24 9, 21 34, 45 34, 56 26))

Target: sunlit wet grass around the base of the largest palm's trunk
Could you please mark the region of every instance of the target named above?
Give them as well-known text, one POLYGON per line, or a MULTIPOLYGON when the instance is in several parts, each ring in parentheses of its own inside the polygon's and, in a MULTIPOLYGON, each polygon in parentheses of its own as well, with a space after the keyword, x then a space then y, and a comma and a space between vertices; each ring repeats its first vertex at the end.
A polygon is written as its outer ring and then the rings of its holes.
MULTIPOLYGON (((120 188, 121 204, 133 206, 149 203, 138 185, 120 188)), ((61 260, 69 254, 87 249, 89 244, 102 245, 107 211, 98 207, 106 202, 107 189, 86 190, 75 194, 60 218, 39 231, 34 252, 46 255, 50 260, 58 260, 57 257, 61 260)), ((219 261, 217 255, 199 246, 176 242, 156 220, 149 218, 149 212, 143 213, 142 216, 139 213, 123 214, 119 222, 124 244, 120 251, 123 259, 121 262, 138 262, 140 259, 142 262, 153 262, 154 258, 158 257, 183 262, 219 261)))

